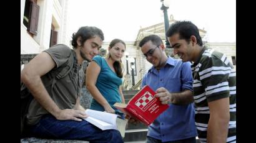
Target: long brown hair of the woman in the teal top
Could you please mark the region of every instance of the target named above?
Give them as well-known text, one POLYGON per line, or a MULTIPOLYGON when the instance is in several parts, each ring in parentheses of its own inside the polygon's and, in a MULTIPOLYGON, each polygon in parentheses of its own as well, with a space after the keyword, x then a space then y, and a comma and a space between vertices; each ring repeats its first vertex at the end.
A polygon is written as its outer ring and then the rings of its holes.
MULTIPOLYGON (((126 44, 125 44, 124 41, 121 40, 121 39, 114 39, 114 40, 112 40, 111 43, 109 44, 109 47, 112 48, 112 47, 113 47, 114 45, 116 45, 117 43, 122 43, 122 44, 124 44, 124 47, 126 48, 126 44)), ((110 57, 111 57, 111 55, 110 55, 110 53, 109 53, 108 58, 110 58, 110 57)), ((116 71, 117 76, 118 76, 119 78, 122 78, 122 76, 123 76, 123 73, 122 73, 122 71, 123 71, 122 62, 121 62, 121 61, 118 61, 118 62, 116 61, 116 62, 114 62, 113 67, 114 67, 114 69, 115 69, 115 71, 116 71)))

